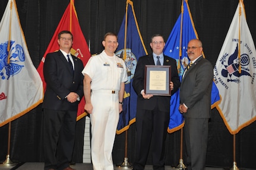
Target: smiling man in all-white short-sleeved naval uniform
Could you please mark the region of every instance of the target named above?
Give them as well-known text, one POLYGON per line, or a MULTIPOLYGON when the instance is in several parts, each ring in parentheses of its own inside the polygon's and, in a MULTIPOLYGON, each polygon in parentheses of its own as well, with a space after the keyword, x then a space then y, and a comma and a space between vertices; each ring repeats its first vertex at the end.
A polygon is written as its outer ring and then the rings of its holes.
POLYGON ((118 37, 106 33, 102 41, 105 50, 92 56, 83 69, 84 110, 91 120, 91 160, 94 170, 113 170, 112 150, 122 111, 127 68, 124 60, 115 56, 118 37))

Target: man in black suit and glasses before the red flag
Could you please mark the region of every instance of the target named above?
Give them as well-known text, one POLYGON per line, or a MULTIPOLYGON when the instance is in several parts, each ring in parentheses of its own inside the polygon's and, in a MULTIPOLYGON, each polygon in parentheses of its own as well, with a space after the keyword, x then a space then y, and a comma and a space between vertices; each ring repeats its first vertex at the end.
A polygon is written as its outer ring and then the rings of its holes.
POLYGON ((43 100, 45 170, 68 170, 75 141, 77 108, 83 97, 83 62, 70 53, 70 31, 58 34, 59 51, 48 53, 43 66, 47 84, 43 100))

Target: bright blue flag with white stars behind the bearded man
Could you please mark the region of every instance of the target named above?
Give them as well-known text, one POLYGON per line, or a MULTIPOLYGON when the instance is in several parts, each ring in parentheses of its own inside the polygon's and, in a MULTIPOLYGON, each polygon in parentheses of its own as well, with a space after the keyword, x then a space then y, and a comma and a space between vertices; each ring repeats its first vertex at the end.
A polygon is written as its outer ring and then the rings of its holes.
MULTIPOLYGON (((197 31, 194 27, 192 15, 188 6, 188 1, 182 2, 181 11, 184 11, 179 15, 169 38, 166 41, 165 49, 163 53, 166 56, 170 56, 176 59, 179 78, 182 80, 182 75, 185 68, 189 63, 187 57, 187 45, 191 39, 198 39, 197 31)), ((218 89, 213 82, 213 88, 211 91, 211 107, 216 106, 220 100, 218 89)), ((168 132, 179 130, 184 126, 184 117, 179 113, 179 90, 172 95, 170 99, 170 121, 168 132)))

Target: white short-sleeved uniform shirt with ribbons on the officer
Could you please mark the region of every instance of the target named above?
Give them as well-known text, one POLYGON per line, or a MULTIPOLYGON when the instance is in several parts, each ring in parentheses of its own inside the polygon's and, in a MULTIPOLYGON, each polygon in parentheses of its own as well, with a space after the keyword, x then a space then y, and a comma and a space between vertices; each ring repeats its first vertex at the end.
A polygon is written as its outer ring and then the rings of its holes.
POLYGON ((82 73, 90 76, 93 91, 99 89, 119 91, 121 82, 128 80, 124 60, 118 56, 109 57, 105 50, 90 57, 82 73))

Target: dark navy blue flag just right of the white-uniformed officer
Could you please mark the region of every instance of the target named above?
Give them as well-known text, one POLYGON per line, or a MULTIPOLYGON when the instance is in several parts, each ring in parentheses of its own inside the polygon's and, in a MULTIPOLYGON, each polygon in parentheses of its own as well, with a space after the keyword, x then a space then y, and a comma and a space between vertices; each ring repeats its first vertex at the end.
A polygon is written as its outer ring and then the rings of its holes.
POLYGON ((147 54, 146 47, 138 28, 132 1, 127 1, 127 11, 118 33, 118 49, 116 55, 124 59, 127 66, 128 81, 125 82, 123 111, 119 117, 116 134, 129 129, 135 122, 137 94, 132 88, 132 78, 139 57, 147 54))

